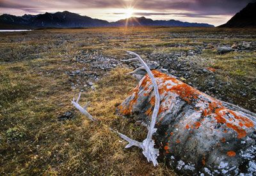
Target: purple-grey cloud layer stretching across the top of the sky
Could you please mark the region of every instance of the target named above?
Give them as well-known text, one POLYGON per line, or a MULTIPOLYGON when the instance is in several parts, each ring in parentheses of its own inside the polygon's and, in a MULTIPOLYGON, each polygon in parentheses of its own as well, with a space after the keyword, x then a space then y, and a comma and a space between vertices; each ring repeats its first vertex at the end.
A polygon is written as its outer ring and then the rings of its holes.
MULTIPOLYGON (((148 16, 181 15, 182 17, 210 18, 209 15, 234 15, 234 13, 244 8, 250 2, 256 2, 256 0, 0 0, 0 7, 1 9, 9 8, 35 13, 47 10, 77 9, 86 11, 86 9, 100 10, 134 6, 138 10, 155 11, 154 13, 144 13, 148 16), (177 10, 177 13, 169 13, 175 10, 177 10), (186 11, 186 13, 179 13, 180 11, 186 11)), ((137 14, 143 15, 143 13, 137 14)))

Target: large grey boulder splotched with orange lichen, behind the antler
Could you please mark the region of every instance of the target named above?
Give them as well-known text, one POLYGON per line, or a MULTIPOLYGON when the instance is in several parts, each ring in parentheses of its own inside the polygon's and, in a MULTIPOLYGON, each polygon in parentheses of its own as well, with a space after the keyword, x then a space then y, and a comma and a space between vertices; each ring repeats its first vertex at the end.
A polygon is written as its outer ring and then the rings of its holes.
MULTIPOLYGON (((255 175, 255 114, 152 71, 161 96, 154 135, 162 156, 177 173, 255 175)), ((118 107, 150 124, 155 97, 145 75, 118 107)))

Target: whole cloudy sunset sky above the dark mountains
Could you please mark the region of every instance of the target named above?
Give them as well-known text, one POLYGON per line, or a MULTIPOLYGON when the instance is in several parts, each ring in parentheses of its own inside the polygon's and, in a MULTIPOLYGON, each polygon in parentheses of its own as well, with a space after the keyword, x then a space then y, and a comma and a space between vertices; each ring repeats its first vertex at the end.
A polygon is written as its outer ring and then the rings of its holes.
POLYGON ((70 11, 113 22, 128 17, 204 22, 218 26, 256 0, 0 0, 0 15, 70 11))

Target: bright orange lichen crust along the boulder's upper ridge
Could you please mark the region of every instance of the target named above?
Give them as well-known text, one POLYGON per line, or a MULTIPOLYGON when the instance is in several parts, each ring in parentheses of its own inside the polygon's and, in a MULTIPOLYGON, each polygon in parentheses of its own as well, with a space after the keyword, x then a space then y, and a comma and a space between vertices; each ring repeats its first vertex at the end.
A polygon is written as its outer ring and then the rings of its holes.
MULTIPOLYGON (((183 101, 186 101, 186 103, 192 104, 193 108, 199 113, 202 113, 203 117, 213 117, 214 119, 210 120, 212 123, 217 122, 220 124, 225 124, 227 128, 233 129, 237 133, 237 138, 243 138, 246 136, 246 128, 252 128, 254 127, 253 122, 244 117, 243 115, 239 114, 238 112, 234 112, 233 110, 229 110, 225 108, 221 101, 218 99, 214 99, 211 96, 208 96, 193 87, 184 84, 183 82, 177 80, 174 77, 170 77, 164 73, 161 73, 159 71, 153 70, 152 73, 154 74, 154 77, 156 78, 157 84, 159 85, 159 94, 161 94, 161 99, 163 103, 160 104, 158 115, 160 115, 162 112, 168 110, 170 108, 170 102, 166 102, 166 97, 168 96, 168 92, 175 93, 179 96, 180 99, 183 101), (204 104, 206 106, 200 106, 201 104, 204 104)), ((120 113, 124 115, 128 115, 132 113, 133 106, 138 103, 138 96, 149 96, 150 92, 153 90, 152 82, 150 80, 150 77, 146 75, 143 80, 141 80, 140 85, 134 88, 132 91, 131 96, 133 97, 131 101, 129 101, 128 105, 120 105, 118 108, 120 109, 120 113), (150 87, 150 88, 149 88, 150 87), (144 92, 143 92, 144 91, 144 92), (140 94, 139 94, 140 92, 140 94)), ((154 107, 155 104, 155 96, 152 95, 151 98, 148 100, 151 107, 148 108, 148 110, 145 112, 146 115, 150 116, 152 115, 152 107, 154 107)), ((167 100, 168 101, 168 100, 167 100)), ((163 115, 160 115, 160 119, 158 121, 161 121, 163 119, 163 115)), ((204 118, 200 122, 202 122, 204 118)), ((208 120, 208 119, 207 119, 208 120)), ((208 120, 209 121, 209 120, 208 120)), ((194 125, 189 126, 189 124, 186 124, 186 129, 198 129, 200 128, 201 124, 200 122, 195 122, 194 125)), ((157 125, 159 125, 159 122, 157 122, 157 125)), ((223 131, 223 133, 227 133, 227 129, 223 131)))

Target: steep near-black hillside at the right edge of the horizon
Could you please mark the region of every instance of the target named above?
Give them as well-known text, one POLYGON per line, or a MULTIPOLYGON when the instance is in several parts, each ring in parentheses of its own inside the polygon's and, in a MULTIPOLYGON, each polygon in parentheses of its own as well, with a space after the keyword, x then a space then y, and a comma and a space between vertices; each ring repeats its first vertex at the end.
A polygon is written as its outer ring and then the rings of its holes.
POLYGON ((256 3, 249 3, 226 24, 219 27, 256 27, 256 3))

